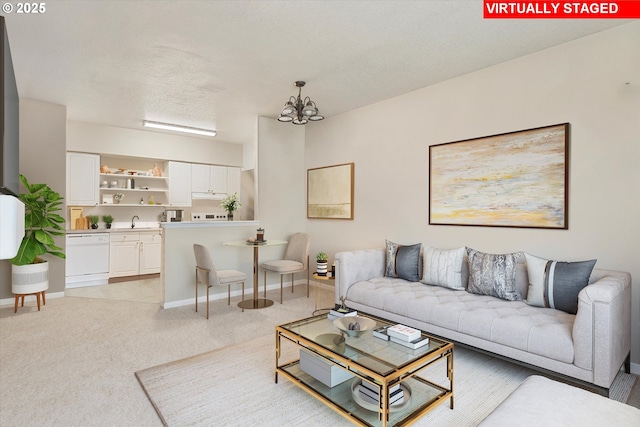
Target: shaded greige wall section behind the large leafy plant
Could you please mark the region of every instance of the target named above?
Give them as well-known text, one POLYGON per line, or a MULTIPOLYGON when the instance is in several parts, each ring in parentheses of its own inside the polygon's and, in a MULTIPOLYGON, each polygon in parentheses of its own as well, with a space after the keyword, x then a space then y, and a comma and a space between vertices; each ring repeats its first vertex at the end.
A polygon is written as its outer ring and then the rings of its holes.
MULTIPOLYGON (((47 102, 20 99, 20 173, 29 183, 46 183, 66 196, 66 123, 67 108, 47 102)), ((25 191, 21 186, 21 192, 25 191)), ((65 205, 66 206, 66 205, 65 205)), ((64 210, 60 212, 64 216, 64 210)), ((56 237, 64 248, 64 237, 56 237)), ((63 292, 65 261, 45 256, 49 261, 48 293, 63 292)), ((12 298, 11 264, 0 261, 0 298, 12 298)))

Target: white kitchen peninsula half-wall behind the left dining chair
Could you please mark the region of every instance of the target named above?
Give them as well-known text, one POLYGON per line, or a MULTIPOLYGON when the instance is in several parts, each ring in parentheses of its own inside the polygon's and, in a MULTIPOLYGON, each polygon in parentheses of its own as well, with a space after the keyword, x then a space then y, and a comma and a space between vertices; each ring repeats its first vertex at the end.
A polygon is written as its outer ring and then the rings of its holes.
MULTIPOLYGON (((213 221, 213 222, 165 222, 163 233, 162 294, 163 307, 173 308, 193 304, 195 295, 195 256, 193 244, 209 248, 213 263, 219 269, 242 271, 247 278, 253 277, 253 259, 240 247, 223 246, 224 242, 247 240, 256 236, 259 221, 213 221)), ((286 246, 274 247, 268 259, 282 257, 286 246)), ((253 280, 245 283, 245 298, 251 297, 253 280)), ((225 287, 212 288, 211 296, 226 298, 225 287)), ((240 295, 240 287, 232 286, 232 297, 240 295)), ((204 301, 204 297, 203 297, 204 301)), ((235 302, 232 301, 232 305, 235 302)))

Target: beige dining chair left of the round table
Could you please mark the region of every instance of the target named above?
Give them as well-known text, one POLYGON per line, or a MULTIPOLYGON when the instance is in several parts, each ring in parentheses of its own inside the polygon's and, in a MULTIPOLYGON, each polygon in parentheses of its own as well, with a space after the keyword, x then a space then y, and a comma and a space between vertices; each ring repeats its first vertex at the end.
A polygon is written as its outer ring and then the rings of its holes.
MULTIPOLYGON (((216 270, 209 250, 197 243, 193 245, 196 255, 196 312, 198 311, 198 285, 207 287, 207 319, 209 318, 209 288, 227 285, 227 305, 231 305, 231 285, 242 283, 242 301, 244 302, 244 282, 247 275, 237 270, 216 270)), ((242 309, 244 311, 244 308, 242 309)))

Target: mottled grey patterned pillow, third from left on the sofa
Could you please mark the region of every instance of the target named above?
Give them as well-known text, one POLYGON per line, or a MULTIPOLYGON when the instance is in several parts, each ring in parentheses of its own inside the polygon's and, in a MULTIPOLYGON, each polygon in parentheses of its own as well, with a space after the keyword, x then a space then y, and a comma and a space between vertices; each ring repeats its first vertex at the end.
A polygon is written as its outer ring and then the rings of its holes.
POLYGON ((507 301, 520 301, 516 290, 516 266, 522 252, 486 254, 467 248, 469 286, 473 294, 489 295, 507 301))

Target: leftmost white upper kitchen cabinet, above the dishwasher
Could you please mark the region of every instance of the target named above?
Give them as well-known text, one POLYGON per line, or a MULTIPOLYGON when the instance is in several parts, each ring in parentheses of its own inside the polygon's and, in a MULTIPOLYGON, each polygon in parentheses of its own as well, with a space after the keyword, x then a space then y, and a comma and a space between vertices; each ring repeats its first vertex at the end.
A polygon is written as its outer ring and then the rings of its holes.
POLYGON ((67 205, 97 206, 100 156, 86 153, 67 153, 67 205))

